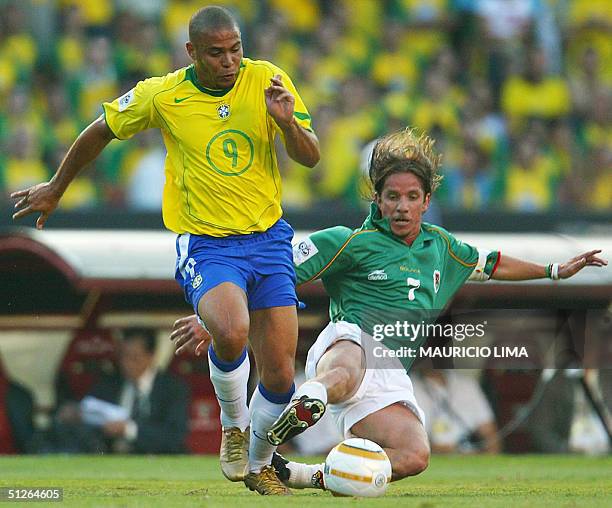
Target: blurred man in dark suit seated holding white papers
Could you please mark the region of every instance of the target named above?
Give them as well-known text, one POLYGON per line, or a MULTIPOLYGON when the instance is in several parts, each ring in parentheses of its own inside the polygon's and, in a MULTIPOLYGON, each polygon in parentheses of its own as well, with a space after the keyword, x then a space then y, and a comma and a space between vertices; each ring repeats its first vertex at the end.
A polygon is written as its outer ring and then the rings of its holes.
POLYGON ((117 404, 129 418, 107 421, 101 431, 109 449, 120 453, 182 453, 188 424, 186 385, 155 367, 151 330, 124 331, 120 372, 105 377, 89 395, 117 404))

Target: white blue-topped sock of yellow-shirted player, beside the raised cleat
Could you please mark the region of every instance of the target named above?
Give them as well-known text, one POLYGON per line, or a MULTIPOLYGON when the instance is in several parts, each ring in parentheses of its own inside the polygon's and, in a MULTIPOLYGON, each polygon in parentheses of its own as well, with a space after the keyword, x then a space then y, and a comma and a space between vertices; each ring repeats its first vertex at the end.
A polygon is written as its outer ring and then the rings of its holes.
POLYGON ((287 393, 272 393, 259 383, 253 392, 249 406, 251 413, 250 472, 259 473, 264 466, 272 462, 272 453, 276 446, 268 443, 266 434, 291 400, 293 390, 292 386, 287 393))

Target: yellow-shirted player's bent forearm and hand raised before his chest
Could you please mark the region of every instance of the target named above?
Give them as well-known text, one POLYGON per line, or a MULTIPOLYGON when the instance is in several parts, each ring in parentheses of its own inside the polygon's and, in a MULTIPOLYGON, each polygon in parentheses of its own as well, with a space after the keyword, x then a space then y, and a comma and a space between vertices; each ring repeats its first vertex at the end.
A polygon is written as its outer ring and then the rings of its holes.
POLYGON ((293 116, 295 97, 285 88, 282 76, 270 79, 270 86, 264 91, 268 113, 274 118, 285 137, 285 148, 294 161, 312 168, 321 158, 319 140, 314 132, 299 125, 293 116))

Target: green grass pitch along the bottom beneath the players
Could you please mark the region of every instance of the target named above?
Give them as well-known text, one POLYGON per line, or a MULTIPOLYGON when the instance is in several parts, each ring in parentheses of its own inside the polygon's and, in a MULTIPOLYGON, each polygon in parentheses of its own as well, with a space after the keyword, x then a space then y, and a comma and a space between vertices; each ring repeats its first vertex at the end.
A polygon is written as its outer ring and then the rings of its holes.
POLYGON ((610 507, 612 458, 434 456, 425 473, 391 484, 378 499, 334 498, 314 490, 263 497, 225 480, 215 457, 196 456, 2 457, 0 487, 64 489, 61 503, 38 506, 610 507))

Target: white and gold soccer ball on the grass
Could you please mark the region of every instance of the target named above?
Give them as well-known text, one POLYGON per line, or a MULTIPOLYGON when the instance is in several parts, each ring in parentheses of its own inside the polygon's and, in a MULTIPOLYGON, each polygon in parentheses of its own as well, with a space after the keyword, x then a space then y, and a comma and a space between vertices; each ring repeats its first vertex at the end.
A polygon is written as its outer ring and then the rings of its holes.
POLYGON ((391 481, 391 462, 373 441, 346 439, 327 455, 323 481, 334 495, 382 496, 391 481))

